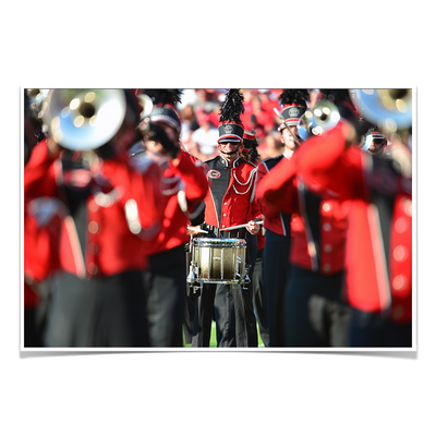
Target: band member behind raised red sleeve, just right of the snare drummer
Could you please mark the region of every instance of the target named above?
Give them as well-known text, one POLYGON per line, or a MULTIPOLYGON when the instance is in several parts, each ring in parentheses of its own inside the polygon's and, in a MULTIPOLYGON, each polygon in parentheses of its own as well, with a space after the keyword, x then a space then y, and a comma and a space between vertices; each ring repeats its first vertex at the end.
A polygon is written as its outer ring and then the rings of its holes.
MULTIPOLYGON (((308 100, 308 93, 305 89, 284 89, 279 96, 279 102, 282 105, 281 116, 295 135, 298 135, 300 118, 307 108, 306 100, 308 100)), ((291 159, 296 148, 296 143, 284 123, 281 123, 278 130, 284 150, 281 155, 261 162, 257 171, 257 186, 283 158, 291 159)), ((300 138, 300 141, 302 140, 300 138)), ((265 217, 264 287, 267 300, 269 346, 282 347, 284 344, 283 294, 287 278, 291 271, 291 264, 288 259, 291 246, 291 205, 288 206, 289 210, 282 210, 269 205, 262 197, 257 198, 257 203, 265 217)))

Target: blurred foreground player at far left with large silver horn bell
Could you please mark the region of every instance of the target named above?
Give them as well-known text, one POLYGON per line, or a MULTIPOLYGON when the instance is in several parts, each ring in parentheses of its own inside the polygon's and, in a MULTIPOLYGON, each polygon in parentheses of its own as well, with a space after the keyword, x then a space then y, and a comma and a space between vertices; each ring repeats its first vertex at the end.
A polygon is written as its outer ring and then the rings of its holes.
POLYGON ((133 169, 123 148, 136 137, 136 99, 122 89, 55 89, 50 110, 56 101, 62 102, 58 108, 63 108, 62 118, 76 114, 70 108, 82 110, 65 124, 76 121, 77 130, 62 128, 53 113, 50 136, 35 146, 24 168, 25 198, 58 198, 65 213, 55 245, 58 256, 50 256, 51 268, 59 264, 61 270, 53 283, 45 344, 148 347, 142 272, 146 259, 140 237, 159 231, 164 198, 157 165, 133 169), (110 114, 99 113, 98 123, 107 129, 97 134, 89 123, 89 129, 80 130, 84 116, 99 109, 99 99, 113 108, 110 114), (70 105, 64 106, 64 100, 71 100, 70 105), (77 150, 92 138, 96 142, 89 144, 90 149, 77 150))

